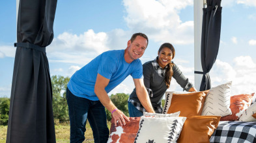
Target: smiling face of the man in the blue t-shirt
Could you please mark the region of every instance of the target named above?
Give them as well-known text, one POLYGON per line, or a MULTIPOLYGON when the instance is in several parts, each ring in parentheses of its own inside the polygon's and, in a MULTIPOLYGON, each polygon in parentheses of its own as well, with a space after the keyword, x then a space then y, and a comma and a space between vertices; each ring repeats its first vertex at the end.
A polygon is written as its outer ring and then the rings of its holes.
POLYGON ((127 51, 131 60, 137 60, 143 56, 145 50, 147 49, 147 39, 142 36, 137 36, 134 41, 128 41, 127 51))

